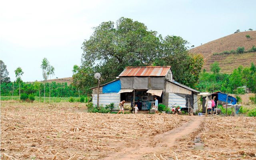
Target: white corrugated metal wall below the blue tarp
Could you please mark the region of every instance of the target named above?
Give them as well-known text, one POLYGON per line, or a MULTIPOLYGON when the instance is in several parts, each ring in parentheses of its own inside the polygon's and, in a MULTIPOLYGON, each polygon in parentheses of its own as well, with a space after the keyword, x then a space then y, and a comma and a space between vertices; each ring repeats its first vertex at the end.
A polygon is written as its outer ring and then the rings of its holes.
MULTIPOLYGON (((119 110, 119 103, 120 103, 120 94, 117 93, 105 93, 99 94, 99 105, 102 104, 103 107, 106 104, 114 103, 114 110, 119 110)), ((97 105, 97 94, 92 94, 92 103, 93 106, 97 105)))

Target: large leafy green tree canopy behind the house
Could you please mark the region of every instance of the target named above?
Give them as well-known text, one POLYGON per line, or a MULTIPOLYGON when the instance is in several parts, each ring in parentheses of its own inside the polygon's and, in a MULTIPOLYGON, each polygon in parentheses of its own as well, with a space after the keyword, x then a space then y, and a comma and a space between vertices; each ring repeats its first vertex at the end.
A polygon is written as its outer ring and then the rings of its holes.
POLYGON ((145 24, 130 18, 102 22, 82 45, 82 65, 73 75, 76 86, 88 92, 97 85, 94 73, 100 72, 101 82, 110 82, 126 66, 172 66, 175 80, 193 87, 202 68, 201 55, 188 52, 186 40, 179 36, 158 36, 145 24))

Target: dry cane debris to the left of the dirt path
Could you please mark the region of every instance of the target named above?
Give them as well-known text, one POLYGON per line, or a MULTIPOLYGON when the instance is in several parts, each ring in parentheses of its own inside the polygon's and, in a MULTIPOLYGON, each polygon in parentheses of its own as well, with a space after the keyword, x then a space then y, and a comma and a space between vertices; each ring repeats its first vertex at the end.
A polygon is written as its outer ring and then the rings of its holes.
POLYGON ((68 103, 1 102, 1 159, 97 159, 107 156, 103 151, 120 150, 108 142, 152 136, 188 121, 170 114, 76 113, 68 108, 68 103))

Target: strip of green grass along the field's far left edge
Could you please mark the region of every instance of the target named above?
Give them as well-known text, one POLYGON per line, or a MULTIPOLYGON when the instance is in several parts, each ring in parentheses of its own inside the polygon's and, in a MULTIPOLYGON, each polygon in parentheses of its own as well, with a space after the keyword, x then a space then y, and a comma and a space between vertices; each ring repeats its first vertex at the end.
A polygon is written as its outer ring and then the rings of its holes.
MULTIPOLYGON (((51 102, 68 102, 70 97, 51 97, 51 102)), ((78 102, 78 97, 73 97, 74 102, 78 102)), ((12 100, 12 96, 1 96, 1 100, 12 100)), ((19 96, 13 96, 13 100, 19 100, 19 96)), ((35 97, 35 101, 44 102, 44 97, 35 97)), ((49 97, 45 97, 45 102, 49 102, 49 97)))

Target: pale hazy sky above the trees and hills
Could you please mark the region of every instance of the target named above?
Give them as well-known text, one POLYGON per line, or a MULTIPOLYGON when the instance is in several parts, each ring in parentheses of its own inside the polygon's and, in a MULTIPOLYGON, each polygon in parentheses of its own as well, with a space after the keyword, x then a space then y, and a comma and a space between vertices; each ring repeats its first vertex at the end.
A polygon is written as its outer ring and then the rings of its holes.
POLYGON ((0 0, 0 59, 12 82, 18 67, 24 82, 43 80, 43 58, 55 68, 52 79, 71 77, 82 43, 102 22, 131 18, 196 47, 256 30, 255 6, 256 0, 0 0))

